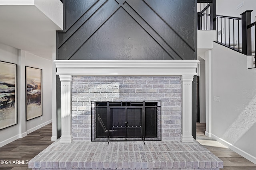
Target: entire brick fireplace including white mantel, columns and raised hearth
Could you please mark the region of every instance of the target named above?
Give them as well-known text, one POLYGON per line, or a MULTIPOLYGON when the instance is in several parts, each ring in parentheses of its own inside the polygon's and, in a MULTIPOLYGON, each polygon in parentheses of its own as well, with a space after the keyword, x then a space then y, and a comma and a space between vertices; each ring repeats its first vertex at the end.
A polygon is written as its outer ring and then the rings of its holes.
POLYGON ((198 61, 55 62, 62 90, 62 136, 30 160, 29 168, 223 168, 222 160, 191 135, 192 79, 198 61), (146 109, 160 113, 145 113, 146 109), (109 124, 103 113, 110 115, 109 124), (120 142, 121 137, 143 137, 143 118, 140 118, 145 114, 144 123, 150 124, 152 121, 148 121, 146 114, 152 113, 158 117, 162 128, 147 125, 144 136, 161 139, 120 142), (102 120, 97 122, 97 119, 102 120), (100 129, 92 122, 98 123, 100 129), (156 133, 149 134, 147 128, 155 129, 156 133), (110 138, 118 137, 117 141, 98 140, 106 137, 107 129, 110 138), (99 135, 94 135, 97 131, 99 135))

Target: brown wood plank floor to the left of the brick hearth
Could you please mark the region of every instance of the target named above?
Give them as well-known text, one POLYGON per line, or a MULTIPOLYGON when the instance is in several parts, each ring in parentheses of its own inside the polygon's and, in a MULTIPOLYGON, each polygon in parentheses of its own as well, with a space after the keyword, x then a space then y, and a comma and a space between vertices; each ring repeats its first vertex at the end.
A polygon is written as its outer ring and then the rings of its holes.
POLYGON ((28 170, 26 163, 54 142, 51 137, 52 123, 1 147, 0 170, 28 170))

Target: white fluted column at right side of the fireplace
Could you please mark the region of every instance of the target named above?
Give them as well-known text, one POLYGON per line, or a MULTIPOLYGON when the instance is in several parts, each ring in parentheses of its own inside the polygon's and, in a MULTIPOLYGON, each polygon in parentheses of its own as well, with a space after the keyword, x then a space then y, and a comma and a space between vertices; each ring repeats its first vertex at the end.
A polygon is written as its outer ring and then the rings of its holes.
POLYGON ((181 141, 194 142, 192 137, 192 81, 193 75, 182 75, 181 141))

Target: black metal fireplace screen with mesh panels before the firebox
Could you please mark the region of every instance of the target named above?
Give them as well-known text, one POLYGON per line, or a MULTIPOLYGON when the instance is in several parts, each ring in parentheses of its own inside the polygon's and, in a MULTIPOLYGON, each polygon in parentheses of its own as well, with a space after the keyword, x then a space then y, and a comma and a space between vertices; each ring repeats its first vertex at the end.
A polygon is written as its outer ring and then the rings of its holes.
POLYGON ((161 101, 92 102, 92 141, 160 141, 161 101))

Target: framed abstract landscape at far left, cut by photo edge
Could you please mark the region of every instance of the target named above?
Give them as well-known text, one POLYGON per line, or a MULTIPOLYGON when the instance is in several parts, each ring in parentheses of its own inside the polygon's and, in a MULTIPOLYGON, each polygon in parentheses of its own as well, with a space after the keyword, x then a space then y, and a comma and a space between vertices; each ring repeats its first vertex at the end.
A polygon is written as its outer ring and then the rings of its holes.
POLYGON ((17 64, 0 61, 0 130, 17 124, 17 64))

